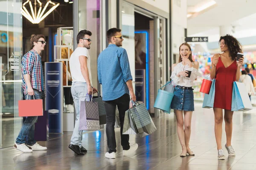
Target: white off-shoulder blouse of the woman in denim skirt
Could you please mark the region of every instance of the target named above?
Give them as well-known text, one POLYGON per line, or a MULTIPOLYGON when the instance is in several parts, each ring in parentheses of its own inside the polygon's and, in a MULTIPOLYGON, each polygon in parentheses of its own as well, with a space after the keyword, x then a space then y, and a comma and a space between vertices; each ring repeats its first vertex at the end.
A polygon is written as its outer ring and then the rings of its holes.
MULTIPOLYGON (((194 63, 192 62, 192 65, 194 66, 194 63)), ((197 69, 195 69, 194 67, 189 68, 189 65, 183 65, 181 62, 179 62, 172 71, 172 76, 171 79, 172 81, 172 85, 179 85, 179 86, 183 86, 183 87, 193 87, 194 85, 194 80, 196 79, 196 77, 201 76, 201 73, 199 73, 199 71, 197 69), (181 71, 192 71, 191 75, 189 78, 185 78, 184 76, 180 76, 177 77, 177 74, 181 71)))

